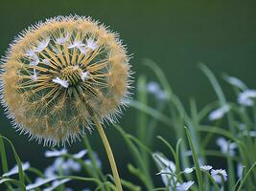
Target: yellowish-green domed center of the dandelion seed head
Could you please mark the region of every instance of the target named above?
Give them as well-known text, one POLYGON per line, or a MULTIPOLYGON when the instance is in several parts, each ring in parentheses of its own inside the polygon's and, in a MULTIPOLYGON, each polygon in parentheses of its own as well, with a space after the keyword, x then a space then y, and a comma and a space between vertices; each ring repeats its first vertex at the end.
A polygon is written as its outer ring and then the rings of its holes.
POLYGON ((77 85, 81 81, 81 68, 79 66, 67 66, 60 71, 61 78, 68 80, 70 85, 77 85))

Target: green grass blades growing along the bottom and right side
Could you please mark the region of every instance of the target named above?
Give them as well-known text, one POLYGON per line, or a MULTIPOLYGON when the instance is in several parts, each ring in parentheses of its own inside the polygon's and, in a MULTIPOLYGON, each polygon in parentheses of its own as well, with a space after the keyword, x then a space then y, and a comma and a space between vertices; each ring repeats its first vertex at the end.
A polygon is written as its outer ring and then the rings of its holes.
MULTIPOLYGON (((246 107, 243 104, 228 101, 217 77, 200 63, 199 68, 212 84, 217 100, 199 109, 197 102, 191 99, 190 108, 187 109, 175 95, 159 66, 149 59, 145 59, 144 63, 159 81, 158 92, 156 91, 153 95, 149 91, 148 77, 142 74, 137 82, 137 98, 129 103, 131 109, 137 114, 135 118, 137 123, 132 124, 136 131, 130 134, 125 131, 125 127, 114 125, 130 155, 131 160, 127 164, 130 180, 136 180, 131 182, 122 179, 124 189, 131 191, 255 190, 256 106, 246 107), (157 97, 160 93, 163 95, 157 97), (221 116, 210 117, 221 108, 227 108, 223 110, 221 116), (170 132, 170 135, 161 134, 161 132, 170 132), (217 140, 222 142, 221 150, 216 147, 217 140), (156 141, 160 143, 159 148, 154 145, 156 141), (227 172, 227 176, 224 171, 215 171, 209 165, 212 165, 215 170, 222 168, 227 172), (239 165, 243 173, 238 175, 239 165), (214 175, 215 173, 217 175, 214 175)), ((244 83, 239 87, 234 84, 230 76, 225 74, 223 78, 232 85, 234 96, 239 96, 247 90, 244 83)), ((70 153, 57 157, 72 159, 78 163, 81 166, 81 174, 64 175, 60 166, 58 176, 54 178, 47 177, 35 167, 24 170, 11 140, 2 136, 0 137, 0 175, 10 172, 11 164, 7 158, 9 149, 7 150, 6 143, 11 147, 18 169, 17 177, 2 176, 0 178, 1 186, 9 190, 18 187, 21 190, 40 191, 46 187, 51 188, 52 182, 57 180, 60 184, 56 190, 59 191, 68 187, 69 180, 84 181, 84 185, 90 182, 90 188, 94 190, 116 190, 112 176, 106 174, 99 165, 99 159, 87 137, 83 138, 87 162, 70 153), (35 180, 30 180, 32 175, 43 181, 33 184, 35 180), (67 181, 61 183, 61 180, 67 181)))

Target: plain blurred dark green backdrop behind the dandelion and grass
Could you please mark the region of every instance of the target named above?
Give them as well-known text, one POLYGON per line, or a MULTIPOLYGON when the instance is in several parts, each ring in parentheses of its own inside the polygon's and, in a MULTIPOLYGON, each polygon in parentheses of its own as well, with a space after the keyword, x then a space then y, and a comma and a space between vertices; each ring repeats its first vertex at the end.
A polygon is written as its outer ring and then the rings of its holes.
MULTIPOLYGON (((128 45, 128 53, 133 54, 130 62, 135 76, 147 74, 150 79, 154 78, 145 70, 142 58, 149 57, 158 63, 184 105, 192 96, 199 101, 199 106, 216 99, 206 77, 198 70, 198 61, 204 62, 215 74, 226 72, 255 87, 256 1, 253 0, 0 0, 0 54, 4 55, 18 32, 36 21, 75 13, 90 15, 120 33, 128 45)), ((221 85, 226 87, 224 82, 221 85)), ((136 128, 135 112, 129 108, 120 120, 129 133, 136 128)), ((0 119, 0 133, 12 139, 21 159, 39 168, 49 163, 50 160, 43 158, 47 148, 15 133, 3 109, 0 119)), ((114 128, 108 128, 106 134, 118 166, 123 169, 121 176, 126 178, 129 154, 124 152, 125 142, 114 128)), ((171 138, 171 133, 169 136, 171 138)), ((96 132, 90 141, 105 160, 96 132)), ((76 152, 81 146, 78 142, 68 149, 76 152)), ((104 165, 107 169, 106 160, 104 165)))

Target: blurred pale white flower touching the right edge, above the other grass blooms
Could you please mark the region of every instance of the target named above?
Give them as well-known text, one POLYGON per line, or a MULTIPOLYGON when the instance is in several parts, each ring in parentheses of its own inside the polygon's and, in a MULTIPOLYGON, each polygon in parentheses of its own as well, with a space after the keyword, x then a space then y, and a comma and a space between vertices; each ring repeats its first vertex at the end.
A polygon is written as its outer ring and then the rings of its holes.
POLYGON ((253 98, 256 98, 256 90, 245 90, 238 96, 238 103, 244 106, 253 106, 253 98))

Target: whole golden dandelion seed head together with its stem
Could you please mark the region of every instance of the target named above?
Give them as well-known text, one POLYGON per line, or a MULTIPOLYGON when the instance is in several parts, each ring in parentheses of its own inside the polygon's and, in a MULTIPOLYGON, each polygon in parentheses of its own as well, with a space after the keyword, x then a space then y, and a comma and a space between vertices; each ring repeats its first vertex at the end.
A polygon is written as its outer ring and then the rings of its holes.
POLYGON ((12 125, 45 145, 96 126, 122 190, 103 121, 126 105, 129 57, 117 33, 89 17, 58 16, 21 32, 2 59, 1 98, 12 125))

